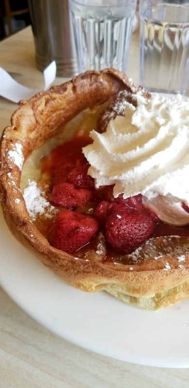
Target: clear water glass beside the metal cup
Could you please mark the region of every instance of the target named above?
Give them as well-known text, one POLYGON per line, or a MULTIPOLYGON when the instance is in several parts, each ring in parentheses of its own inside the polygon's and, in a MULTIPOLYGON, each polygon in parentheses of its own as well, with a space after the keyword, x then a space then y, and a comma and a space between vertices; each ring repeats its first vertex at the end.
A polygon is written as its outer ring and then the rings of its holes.
POLYGON ((79 73, 125 71, 136 0, 69 0, 79 73))

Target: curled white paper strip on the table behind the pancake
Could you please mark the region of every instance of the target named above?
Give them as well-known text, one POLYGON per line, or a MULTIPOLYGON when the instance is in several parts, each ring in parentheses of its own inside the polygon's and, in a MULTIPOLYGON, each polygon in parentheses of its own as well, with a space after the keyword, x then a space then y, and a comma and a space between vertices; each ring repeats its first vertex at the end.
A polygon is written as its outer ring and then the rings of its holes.
MULTIPOLYGON (((56 63, 52 61, 43 71, 44 90, 49 89, 56 77, 56 63)), ((0 96, 18 103, 22 99, 28 99, 40 92, 41 89, 27 88, 15 81, 9 73, 0 67, 0 96)))

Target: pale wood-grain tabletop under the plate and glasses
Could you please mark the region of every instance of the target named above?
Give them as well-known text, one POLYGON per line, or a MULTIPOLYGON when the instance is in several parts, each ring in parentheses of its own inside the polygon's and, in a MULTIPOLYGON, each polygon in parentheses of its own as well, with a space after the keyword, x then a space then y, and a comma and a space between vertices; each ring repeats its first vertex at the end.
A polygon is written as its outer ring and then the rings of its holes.
MULTIPOLYGON (((136 82, 138 61, 136 32, 127 71, 136 82)), ((43 87, 30 27, 0 42, 0 66, 27 87, 43 87)), ((63 81, 56 78, 54 84, 63 81)), ((0 97, 1 130, 16 108, 0 97)), ((0 288, 0 388, 188 388, 188 382, 188 369, 135 365, 69 343, 35 322, 0 288)))

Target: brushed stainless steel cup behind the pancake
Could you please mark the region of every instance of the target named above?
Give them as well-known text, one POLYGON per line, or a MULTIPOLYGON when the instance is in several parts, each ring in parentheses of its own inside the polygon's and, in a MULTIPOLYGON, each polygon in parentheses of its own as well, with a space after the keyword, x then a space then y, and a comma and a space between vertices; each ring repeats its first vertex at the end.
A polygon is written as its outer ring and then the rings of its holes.
POLYGON ((28 0, 40 70, 55 60, 57 77, 76 75, 77 63, 68 0, 28 0))

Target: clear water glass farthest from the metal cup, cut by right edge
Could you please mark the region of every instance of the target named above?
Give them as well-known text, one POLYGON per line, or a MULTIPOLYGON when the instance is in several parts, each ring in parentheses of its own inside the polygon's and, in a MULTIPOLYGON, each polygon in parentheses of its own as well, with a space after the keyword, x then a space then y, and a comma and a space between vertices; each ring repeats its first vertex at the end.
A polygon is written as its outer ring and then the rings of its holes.
POLYGON ((140 0, 140 83, 185 95, 189 87, 189 0, 140 0))

